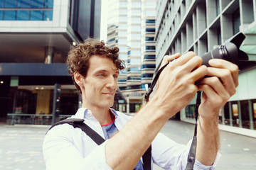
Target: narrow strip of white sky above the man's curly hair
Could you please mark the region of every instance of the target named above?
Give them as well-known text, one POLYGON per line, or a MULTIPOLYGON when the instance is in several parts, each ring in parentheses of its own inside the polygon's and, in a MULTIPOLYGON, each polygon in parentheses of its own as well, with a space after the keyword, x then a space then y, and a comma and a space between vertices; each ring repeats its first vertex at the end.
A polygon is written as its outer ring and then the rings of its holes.
POLYGON ((107 0, 102 0, 100 20, 100 40, 107 42, 107 0))

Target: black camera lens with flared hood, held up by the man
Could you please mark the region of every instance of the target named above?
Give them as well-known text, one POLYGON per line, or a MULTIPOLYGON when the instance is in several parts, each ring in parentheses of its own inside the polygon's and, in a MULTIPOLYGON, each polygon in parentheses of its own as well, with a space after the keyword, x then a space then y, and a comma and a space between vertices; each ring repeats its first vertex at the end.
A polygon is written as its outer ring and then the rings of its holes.
POLYGON ((237 33, 232 38, 226 40, 224 45, 220 45, 203 55, 202 65, 208 67, 208 61, 210 59, 223 59, 237 64, 241 71, 255 67, 256 61, 249 61, 248 55, 242 50, 239 50, 243 40, 245 40, 245 35, 243 33, 237 33))

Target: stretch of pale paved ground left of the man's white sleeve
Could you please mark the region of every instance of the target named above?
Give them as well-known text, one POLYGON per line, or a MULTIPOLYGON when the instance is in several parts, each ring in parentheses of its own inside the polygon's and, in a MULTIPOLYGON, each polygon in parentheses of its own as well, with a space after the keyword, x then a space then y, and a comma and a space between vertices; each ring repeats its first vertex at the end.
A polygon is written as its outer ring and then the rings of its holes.
POLYGON ((42 145, 48 127, 0 125, 0 169, 45 170, 42 145))

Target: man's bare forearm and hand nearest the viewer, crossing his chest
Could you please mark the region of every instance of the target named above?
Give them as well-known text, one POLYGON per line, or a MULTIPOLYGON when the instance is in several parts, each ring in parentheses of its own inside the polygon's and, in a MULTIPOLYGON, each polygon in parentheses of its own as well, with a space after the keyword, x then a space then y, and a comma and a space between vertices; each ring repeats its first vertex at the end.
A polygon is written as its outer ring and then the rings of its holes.
MULTIPOLYGON (((187 52, 161 72, 154 97, 106 145, 106 161, 112 169, 133 169, 157 133, 169 118, 185 107, 195 96, 195 82, 203 78, 207 69, 201 57, 187 52)), ((168 61, 167 60, 167 61, 168 61)))

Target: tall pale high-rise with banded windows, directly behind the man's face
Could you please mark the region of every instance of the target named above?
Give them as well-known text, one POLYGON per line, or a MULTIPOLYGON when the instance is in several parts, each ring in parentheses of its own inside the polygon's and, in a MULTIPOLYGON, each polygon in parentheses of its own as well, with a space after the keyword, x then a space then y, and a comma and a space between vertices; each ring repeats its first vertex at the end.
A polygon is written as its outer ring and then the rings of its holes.
POLYGON ((119 57, 126 64, 118 85, 128 102, 127 113, 135 113, 142 106, 155 69, 155 5, 155 0, 109 3, 107 41, 109 46, 119 47, 119 57))

